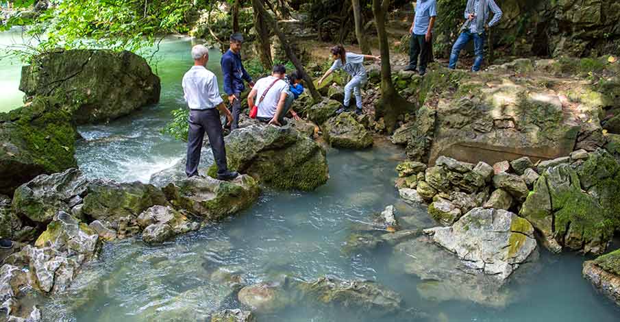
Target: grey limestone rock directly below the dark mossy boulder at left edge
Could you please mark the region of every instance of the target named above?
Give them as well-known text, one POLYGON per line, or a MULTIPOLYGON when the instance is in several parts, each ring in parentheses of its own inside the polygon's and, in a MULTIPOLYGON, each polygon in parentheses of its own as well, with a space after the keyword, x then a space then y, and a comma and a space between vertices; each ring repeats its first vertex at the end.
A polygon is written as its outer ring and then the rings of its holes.
POLYGON ((70 212, 82 201, 88 182, 77 169, 39 175, 23 184, 13 197, 13 211, 36 223, 49 223, 59 211, 70 212))

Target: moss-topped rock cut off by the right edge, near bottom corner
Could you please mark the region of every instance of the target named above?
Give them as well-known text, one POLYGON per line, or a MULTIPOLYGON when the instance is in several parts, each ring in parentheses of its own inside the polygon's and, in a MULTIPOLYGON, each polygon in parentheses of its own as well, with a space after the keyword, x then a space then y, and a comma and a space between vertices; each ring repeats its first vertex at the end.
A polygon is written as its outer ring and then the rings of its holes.
POLYGON ((583 275, 620 306, 620 250, 584 262, 583 275))

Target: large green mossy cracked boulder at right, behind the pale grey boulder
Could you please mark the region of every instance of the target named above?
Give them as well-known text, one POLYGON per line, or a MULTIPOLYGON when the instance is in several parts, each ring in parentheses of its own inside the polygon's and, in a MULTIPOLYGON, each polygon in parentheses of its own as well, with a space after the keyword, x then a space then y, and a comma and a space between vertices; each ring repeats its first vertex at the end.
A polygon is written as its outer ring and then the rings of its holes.
POLYGON ((577 170, 570 164, 541 175, 521 208, 545 238, 545 247, 602 253, 618 228, 620 164, 605 151, 591 153, 577 170))

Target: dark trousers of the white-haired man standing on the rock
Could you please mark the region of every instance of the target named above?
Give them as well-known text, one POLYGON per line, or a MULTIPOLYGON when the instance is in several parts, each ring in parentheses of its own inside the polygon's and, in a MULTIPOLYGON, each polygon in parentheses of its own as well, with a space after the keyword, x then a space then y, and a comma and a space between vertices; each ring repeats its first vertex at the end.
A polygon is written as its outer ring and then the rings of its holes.
POLYGON ((200 151, 202 149, 205 132, 209 138, 213 158, 217 164, 219 175, 226 173, 226 149, 224 147, 224 135, 220 113, 215 108, 208 110, 190 110, 188 119, 189 133, 187 140, 187 162, 185 173, 188 177, 198 175, 198 164, 200 163, 200 151))

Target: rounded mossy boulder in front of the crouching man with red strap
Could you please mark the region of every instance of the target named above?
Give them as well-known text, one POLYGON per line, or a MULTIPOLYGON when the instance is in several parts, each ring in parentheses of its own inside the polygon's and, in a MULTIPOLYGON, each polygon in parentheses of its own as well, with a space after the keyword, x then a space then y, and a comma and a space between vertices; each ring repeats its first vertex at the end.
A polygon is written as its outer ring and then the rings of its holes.
MULTIPOLYGON (((228 167, 261 184, 314 190, 329 178, 325 150, 290 126, 252 125, 225 138, 228 167)), ((216 166, 209 175, 215 176, 216 166)))

